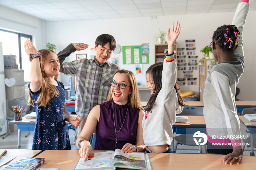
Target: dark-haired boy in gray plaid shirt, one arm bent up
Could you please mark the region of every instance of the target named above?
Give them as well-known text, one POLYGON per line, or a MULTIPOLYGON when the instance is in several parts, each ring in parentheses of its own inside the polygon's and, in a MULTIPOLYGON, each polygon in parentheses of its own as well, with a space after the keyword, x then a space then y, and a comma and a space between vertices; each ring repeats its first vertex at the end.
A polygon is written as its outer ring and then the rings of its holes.
POLYGON ((76 79, 75 111, 82 120, 78 128, 78 136, 83 130, 91 109, 106 101, 113 74, 119 70, 117 65, 108 62, 116 48, 116 40, 109 34, 102 34, 97 37, 94 46, 96 50, 94 59, 84 58, 63 63, 71 53, 76 50, 84 50, 87 47, 88 45, 84 43, 71 43, 58 53, 60 72, 74 76, 76 79))

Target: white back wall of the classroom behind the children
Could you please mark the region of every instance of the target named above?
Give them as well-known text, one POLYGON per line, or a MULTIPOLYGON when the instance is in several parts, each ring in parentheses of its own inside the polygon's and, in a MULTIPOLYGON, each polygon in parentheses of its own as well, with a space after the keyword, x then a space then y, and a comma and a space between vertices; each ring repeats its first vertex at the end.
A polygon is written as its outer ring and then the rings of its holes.
MULTIPOLYGON (((146 85, 145 72, 147 68, 154 63, 154 35, 158 33, 159 28, 167 31, 172 26, 172 22, 178 20, 181 23, 181 34, 177 39, 177 47, 184 47, 185 40, 196 40, 196 55, 199 59, 203 57, 200 50, 209 45, 211 36, 218 26, 223 24, 231 24, 234 12, 223 13, 204 13, 193 15, 176 15, 176 16, 158 16, 157 19, 149 19, 149 17, 139 18, 121 18, 121 19, 102 19, 102 20, 80 20, 69 22, 47 22, 45 28, 46 42, 53 43, 57 46, 56 52, 64 49, 69 43, 84 42, 92 48, 95 39, 101 34, 113 35, 118 45, 141 45, 142 43, 150 43, 150 64, 143 65, 143 75, 136 75, 140 84, 146 85)), ((254 55, 255 46, 255 16, 256 11, 250 11, 244 28, 244 51, 245 51, 245 70, 242 75, 238 88, 240 100, 256 100, 256 62, 254 55)), ((71 54, 65 61, 73 61, 75 54, 87 53, 89 49, 84 51, 76 51, 71 54)), ((120 63, 123 63, 122 53, 120 63)), ((134 65, 120 65, 121 69, 132 70, 135 72, 134 65)), ((193 73, 194 77, 198 76, 198 71, 193 73)), ((61 81, 67 82, 67 78, 61 76, 61 81)), ((192 90, 198 93, 198 83, 195 86, 182 86, 181 90, 192 90)))

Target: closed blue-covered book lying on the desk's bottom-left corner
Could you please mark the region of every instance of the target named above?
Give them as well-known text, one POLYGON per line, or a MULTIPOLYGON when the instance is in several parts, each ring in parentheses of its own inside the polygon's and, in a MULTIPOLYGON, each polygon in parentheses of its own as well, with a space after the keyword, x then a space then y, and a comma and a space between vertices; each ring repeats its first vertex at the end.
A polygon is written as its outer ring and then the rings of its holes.
POLYGON ((35 170, 45 162, 45 158, 22 158, 7 167, 4 170, 35 170))

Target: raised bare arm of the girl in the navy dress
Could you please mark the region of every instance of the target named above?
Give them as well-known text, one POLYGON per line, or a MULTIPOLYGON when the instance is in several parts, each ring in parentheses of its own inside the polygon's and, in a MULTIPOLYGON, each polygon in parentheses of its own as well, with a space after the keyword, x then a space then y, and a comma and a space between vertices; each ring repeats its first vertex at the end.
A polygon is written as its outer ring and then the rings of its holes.
MULTIPOLYGON (((33 46, 32 42, 28 39, 24 44, 24 49, 29 54, 37 54, 37 49, 33 46)), ((39 54, 41 55, 41 54, 39 54)), ((42 73, 40 68, 39 57, 35 57, 31 61, 31 69, 30 69, 30 90, 32 92, 37 92, 43 84, 42 81, 42 73)))

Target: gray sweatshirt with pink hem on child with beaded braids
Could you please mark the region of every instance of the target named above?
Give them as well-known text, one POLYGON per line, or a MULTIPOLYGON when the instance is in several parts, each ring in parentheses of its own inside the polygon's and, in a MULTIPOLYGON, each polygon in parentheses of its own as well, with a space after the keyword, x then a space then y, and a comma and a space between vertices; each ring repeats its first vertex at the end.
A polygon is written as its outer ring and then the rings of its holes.
POLYGON ((237 143, 241 139, 235 138, 241 135, 235 93, 238 80, 244 72, 242 31, 248 11, 249 3, 239 3, 232 23, 237 26, 241 36, 238 38, 239 45, 234 50, 236 61, 222 62, 212 67, 204 83, 204 119, 210 143, 226 142, 227 140, 221 139, 225 135, 231 140, 232 146, 240 146, 237 143), (213 135, 215 140, 211 139, 213 135))

